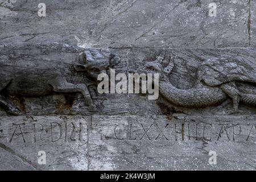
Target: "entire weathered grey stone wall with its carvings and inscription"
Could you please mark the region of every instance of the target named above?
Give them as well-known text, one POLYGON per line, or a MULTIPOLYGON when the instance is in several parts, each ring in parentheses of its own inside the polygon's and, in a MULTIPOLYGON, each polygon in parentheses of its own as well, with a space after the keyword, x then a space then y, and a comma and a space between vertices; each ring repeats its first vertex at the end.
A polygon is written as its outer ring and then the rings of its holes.
POLYGON ((46 0, 45 18, 40 2, 0 0, 0 170, 255 170, 254 0, 46 0), (216 17, 208 15, 212 2, 216 17), (127 75, 151 73, 148 64, 161 68, 160 85, 167 85, 158 100, 98 94, 91 80, 95 67, 127 75), (42 70, 49 79, 41 80, 42 70), (51 77, 56 73, 84 84, 84 92, 67 91, 67 82, 51 77), (65 92, 30 94, 46 93, 52 80, 65 92), (223 102, 211 105, 209 86, 223 102), (10 92, 16 89, 27 96, 10 92), (190 93, 207 96, 206 105, 196 107, 203 97, 190 93), (184 106, 181 96, 194 102, 184 106), (38 164, 39 151, 46 165, 38 164), (216 165, 208 163, 209 151, 216 151, 216 165))

